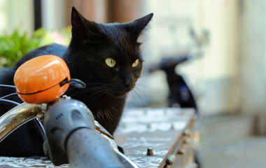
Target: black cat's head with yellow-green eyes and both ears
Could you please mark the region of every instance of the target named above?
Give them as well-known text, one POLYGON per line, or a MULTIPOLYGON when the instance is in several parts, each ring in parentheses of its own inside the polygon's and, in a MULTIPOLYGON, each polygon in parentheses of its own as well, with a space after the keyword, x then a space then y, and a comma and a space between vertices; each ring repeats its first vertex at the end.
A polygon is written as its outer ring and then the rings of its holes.
POLYGON ((122 97, 133 89, 141 74, 143 59, 137 38, 153 13, 129 23, 101 24, 86 20, 72 8, 72 39, 69 45, 71 77, 94 90, 122 97))

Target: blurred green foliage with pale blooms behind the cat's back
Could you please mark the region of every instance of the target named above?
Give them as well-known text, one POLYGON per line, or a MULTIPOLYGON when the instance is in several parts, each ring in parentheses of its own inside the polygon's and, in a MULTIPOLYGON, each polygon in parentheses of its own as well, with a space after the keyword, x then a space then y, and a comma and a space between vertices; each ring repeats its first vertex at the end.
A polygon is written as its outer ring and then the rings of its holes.
POLYGON ((59 31, 37 29, 29 36, 26 32, 20 33, 15 29, 11 34, 4 33, 0 36, 0 69, 15 64, 23 55, 35 48, 51 43, 69 45, 71 40, 71 27, 59 31))

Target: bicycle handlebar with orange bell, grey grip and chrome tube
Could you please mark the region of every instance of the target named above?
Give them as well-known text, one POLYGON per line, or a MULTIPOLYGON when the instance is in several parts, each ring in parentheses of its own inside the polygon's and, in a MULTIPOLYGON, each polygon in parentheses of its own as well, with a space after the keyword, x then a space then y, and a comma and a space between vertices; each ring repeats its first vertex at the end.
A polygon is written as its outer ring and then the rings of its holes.
POLYGON ((43 55, 30 59, 15 72, 14 83, 20 98, 29 104, 22 103, 0 117, 0 142, 20 125, 35 119, 43 135, 43 150, 54 165, 137 167, 116 150, 116 143, 110 143, 112 136, 104 137, 108 134, 94 125, 94 117, 85 104, 64 97, 60 100, 69 85, 85 87, 81 80, 70 78, 62 58, 43 55), (43 116, 42 125, 38 118, 43 116))

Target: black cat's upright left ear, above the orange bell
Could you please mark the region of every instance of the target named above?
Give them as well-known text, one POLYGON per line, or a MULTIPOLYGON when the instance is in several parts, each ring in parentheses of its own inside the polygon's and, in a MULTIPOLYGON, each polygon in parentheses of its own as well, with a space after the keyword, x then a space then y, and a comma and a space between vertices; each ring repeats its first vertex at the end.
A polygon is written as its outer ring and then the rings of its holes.
POLYGON ((97 23, 86 20, 75 7, 72 7, 71 13, 72 37, 86 38, 92 36, 94 31, 97 30, 97 23))

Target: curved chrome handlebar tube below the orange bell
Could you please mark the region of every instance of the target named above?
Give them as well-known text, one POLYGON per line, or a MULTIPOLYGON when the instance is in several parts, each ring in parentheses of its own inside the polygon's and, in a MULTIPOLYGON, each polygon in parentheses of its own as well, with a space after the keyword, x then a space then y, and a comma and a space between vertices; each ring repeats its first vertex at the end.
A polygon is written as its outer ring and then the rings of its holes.
POLYGON ((0 142, 8 134, 20 127, 29 120, 37 118, 41 113, 41 105, 22 103, 0 117, 0 142))

